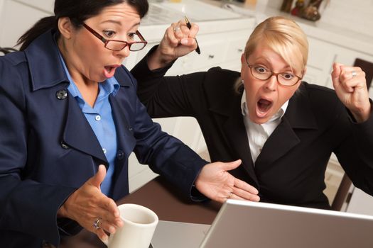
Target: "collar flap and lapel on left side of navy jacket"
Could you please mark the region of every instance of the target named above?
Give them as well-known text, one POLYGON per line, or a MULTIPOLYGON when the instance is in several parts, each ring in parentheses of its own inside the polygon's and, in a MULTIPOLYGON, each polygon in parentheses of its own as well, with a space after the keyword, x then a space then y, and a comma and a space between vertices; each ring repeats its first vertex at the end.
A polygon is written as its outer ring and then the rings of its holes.
MULTIPOLYGON (((63 65, 60 62, 54 33, 55 30, 49 30, 40 35, 25 50, 30 67, 33 91, 48 89, 58 84, 66 87, 65 84, 68 82, 63 65)), ((64 88, 64 90, 67 92, 67 89, 64 88)), ((58 91, 56 94, 58 94, 58 91)), ((62 96, 61 99, 66 101, 67 104, 66 122, 63 130, 63 142, 65 144, 63 145, 74 147, 77 150, 97 157, 103 164, 108 164, 104 152, 102 152, 102 147, 99 145, 90 123, 88 123, 85 115, 77 105, 75 98, 68 94, 67 98, 62 96)))

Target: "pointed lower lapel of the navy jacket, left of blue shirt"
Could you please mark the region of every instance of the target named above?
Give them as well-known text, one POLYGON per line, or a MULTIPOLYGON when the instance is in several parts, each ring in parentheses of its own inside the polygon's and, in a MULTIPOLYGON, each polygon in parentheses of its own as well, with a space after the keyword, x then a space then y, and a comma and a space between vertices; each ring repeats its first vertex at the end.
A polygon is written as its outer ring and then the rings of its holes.
POLYGON ((88 123, 82 110, 77 105, 75 98, 70 94, 68 95, 67 105, 67 117, 63 133, 65 143, 70 147, 97 157, 104 164, 108 164, 90 123, 88 123))

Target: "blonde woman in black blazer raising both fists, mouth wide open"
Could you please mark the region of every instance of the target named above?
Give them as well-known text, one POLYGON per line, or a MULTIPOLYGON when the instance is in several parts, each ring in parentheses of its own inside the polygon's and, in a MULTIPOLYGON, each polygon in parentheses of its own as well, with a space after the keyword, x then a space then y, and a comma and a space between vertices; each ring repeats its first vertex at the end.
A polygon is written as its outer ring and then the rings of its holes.
MULTIPOLYGON (((330 208, 323 190, 332 152, 355 186, 373 193, 372 101, 362 69, 334 64, 335 90, 302 81, 306 35, 291 19, 272 17, 247 41, 241 73, 215 67, 163 77, 180 47, 195 49, 185 37, 197 32, 173 23, 132 70, 151 116, 195 117, 212 162, 242 159, 229 173, 257 188, 261 201, 330 208)), ((239 193, 233 187, 229 198, 239 193)))

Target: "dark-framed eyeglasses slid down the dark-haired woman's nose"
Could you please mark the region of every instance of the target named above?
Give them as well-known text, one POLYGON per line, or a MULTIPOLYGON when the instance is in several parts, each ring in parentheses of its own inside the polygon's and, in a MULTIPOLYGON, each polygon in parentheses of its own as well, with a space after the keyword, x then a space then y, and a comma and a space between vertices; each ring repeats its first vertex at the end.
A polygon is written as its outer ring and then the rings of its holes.
POLYGON ((107 40, 102 35, 94 31, 90 26, 87 24, 83 23, 83 27, 85 27, 92 35, 96 36, 99 38, 104 43, 104 47, 112 50, 112 51, 120 51, 124 49, 128 45, 130 51, 139 51, 143 49, 148 42, 144 39, 143 35, 137 30, 136 33, 132 33, 133 35, 131 39, 133 41, 124 41, 124 40, 107 40))

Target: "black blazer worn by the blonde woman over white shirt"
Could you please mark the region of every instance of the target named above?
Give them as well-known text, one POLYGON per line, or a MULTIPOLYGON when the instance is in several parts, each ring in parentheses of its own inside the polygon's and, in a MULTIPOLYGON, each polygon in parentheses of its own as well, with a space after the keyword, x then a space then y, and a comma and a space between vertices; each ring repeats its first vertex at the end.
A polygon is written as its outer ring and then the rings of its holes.
POLYGON ((239 72, 215 67, 163 77, 167 69, 149 71, 145 57, 131 71, 148 113, 154 118, 196 118, 212 162, 242 159, 232 174, 258 188, 261 201, 330 208, 323 190, 332 152, 355 186, 372 194, 373 117, 354 123, 335 91, 302 82, 254 166, 240 106, 242 92, 233 89, 239 72))

